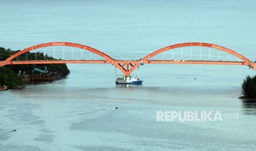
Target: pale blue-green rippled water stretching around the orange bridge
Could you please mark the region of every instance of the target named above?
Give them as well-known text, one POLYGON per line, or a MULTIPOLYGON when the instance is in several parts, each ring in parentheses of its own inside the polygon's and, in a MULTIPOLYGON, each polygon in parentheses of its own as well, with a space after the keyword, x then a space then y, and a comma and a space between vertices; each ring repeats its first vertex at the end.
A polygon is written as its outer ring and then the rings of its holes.
MULTIPOLYGON (((0 4, 1 47, 14 50, 66 41, 134 60, 167 45, 208 42, 256 60, 254 1, 0 4)), ((252 69, 144 65, 144 84, 124 87, 115 85, 111 65, 68 67, 67 78, 0 91, 1 150, 256 149, 255 103, 238 99, 252 69), (238 112, 239 118, 157 122, 157 111, 238 112)))

